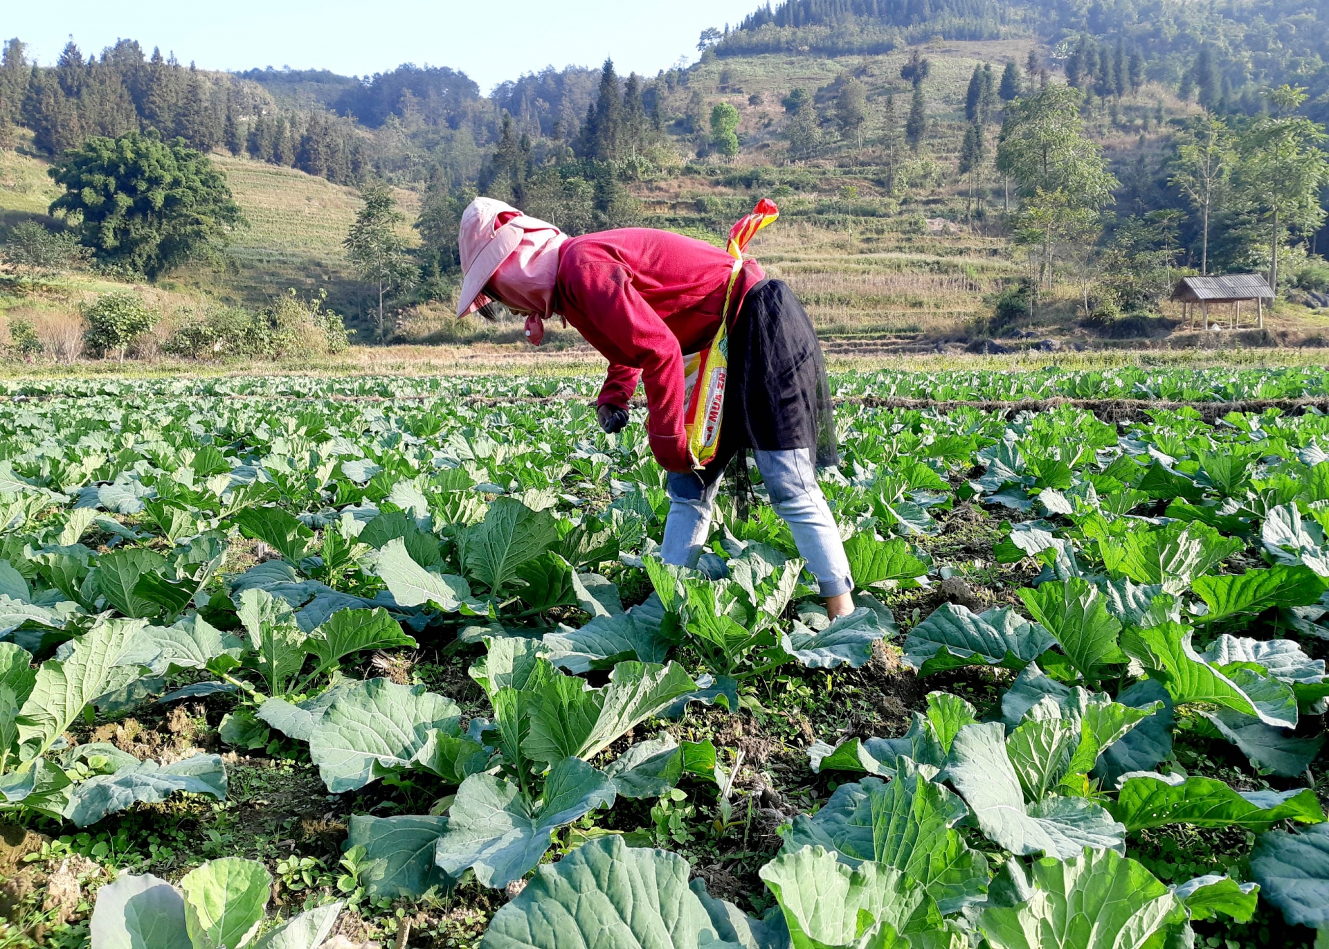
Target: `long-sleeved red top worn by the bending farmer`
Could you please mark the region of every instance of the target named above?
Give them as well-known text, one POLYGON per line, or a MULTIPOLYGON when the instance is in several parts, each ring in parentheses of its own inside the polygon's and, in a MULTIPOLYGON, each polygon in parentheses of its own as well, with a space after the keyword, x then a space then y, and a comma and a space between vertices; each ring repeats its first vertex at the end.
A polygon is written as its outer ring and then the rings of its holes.
MULTIPOLYGON (((558 254, 553 310, 609 359, 601 405, 627 405, 646 383, 646 433, 661 467, 691 471, 683 433, 683 354, 715 336, 734 258, 695 238, 625 227, 569 239, 558 254)), ((743 264, 731 318, 764 278, 743 264)))

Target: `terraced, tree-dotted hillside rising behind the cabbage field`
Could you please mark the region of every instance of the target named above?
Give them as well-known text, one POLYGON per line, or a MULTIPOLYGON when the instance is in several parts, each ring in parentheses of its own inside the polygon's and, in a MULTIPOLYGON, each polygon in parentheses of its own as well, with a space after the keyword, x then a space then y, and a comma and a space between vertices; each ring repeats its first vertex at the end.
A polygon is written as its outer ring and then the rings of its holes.
MULTIPOLYGON (((58 229, 45 215, 58 195, 45 162, 141 128, 210 154, 247 222, 225 254, 158 280, 195 310, 262 307, 294 288, 326 294, 368 334, 377 296, 343 241, 361 207, 355 189, 387 181, 419 271, 387 294, 399 340, 520 339, 510 323, 451 318, 457 215, 484 193, 573 234, 647 225, 714 242, 772 197, 781 222, 752 250, 808 302, 832 348, 1193 344, 1166 300, 1171 282, 1271 271, 1269 211, 1233 158, 1201 226, 1176 183, 1183 146, 1212 117, 1229 152, 1237 140, 1236 152, 1256 148, 1260 124, 1285 112, 1268 94, 1282 82, 1308 90, 1296 116, 1324 118, 1329 101, 1321 17, 1293 0, 791 0, 703 32, 699 48, 692 66, 654 77, 618 76, 611 62, 550 68, 482 97, 448 68, 364 81, 209 73, 130 41, 100 57, 70 44, 32 70, 11 41, 0 226, 58 229), (1102 156, 1107 193, 1074 211, 1091 215, 1087 230, 1070 217, 1030 230, 1034 186, 998 167, 1005 128, 1018 102, 1065 85, 1079 96, 1067 134, 1102 156)), ((1312 203, 1275 227, 1285 300, 1244 342, 1320 332, 1329 264, 1316 251, 1329 234, 1312 203)))

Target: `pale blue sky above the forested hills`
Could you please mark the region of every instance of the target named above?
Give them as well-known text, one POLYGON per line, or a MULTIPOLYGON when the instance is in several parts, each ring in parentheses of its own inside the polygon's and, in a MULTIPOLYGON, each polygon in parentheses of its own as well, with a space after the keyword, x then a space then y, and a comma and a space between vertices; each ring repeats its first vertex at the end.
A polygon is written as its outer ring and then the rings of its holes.
POLYGON ((0 33, 49 64, 73 35, 86 53, 120 37, 175 51, 205 69, 324 68, 363 76, 401 62, 461 69, 488 93, 546 65, 654 76, 696 58, 707 27, 736 24, 758 0, 4 0, 0 33))

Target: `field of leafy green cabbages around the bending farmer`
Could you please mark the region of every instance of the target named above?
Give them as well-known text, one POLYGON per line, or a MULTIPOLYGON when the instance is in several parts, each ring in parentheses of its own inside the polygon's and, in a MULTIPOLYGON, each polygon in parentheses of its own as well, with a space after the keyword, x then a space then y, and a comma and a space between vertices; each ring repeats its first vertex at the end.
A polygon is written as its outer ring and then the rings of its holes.
POLYGON ((1329 944, 1329 372, 832 387, 833 622, 594 379, 0 383, 0 946, 1329 944))

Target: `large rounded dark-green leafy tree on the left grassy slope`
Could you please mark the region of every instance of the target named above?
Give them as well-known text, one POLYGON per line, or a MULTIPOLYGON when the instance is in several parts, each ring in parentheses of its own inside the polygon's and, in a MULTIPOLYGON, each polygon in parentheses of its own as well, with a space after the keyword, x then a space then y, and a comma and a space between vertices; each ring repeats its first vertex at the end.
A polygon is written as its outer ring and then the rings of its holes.
POLYGON ((89 138, 49 174, 65 189, 51 213, 74 222, 98 259, 153 279, 217 254, 245 223, 206 156, 152 133, 89 138))

